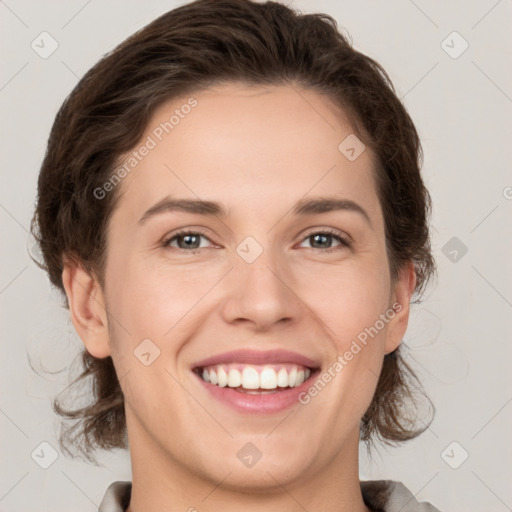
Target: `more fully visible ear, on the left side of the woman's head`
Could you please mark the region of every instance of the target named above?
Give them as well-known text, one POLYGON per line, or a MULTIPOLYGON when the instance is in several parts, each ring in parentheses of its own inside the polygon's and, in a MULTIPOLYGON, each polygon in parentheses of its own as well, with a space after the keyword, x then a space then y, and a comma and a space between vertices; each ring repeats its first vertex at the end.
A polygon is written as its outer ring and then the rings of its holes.
POLYGON ((108 318, 97 278, 80 264, 66 261, 62 282, 68 297, 71 321, 87 352, 99 359, 109 356, 108 318))

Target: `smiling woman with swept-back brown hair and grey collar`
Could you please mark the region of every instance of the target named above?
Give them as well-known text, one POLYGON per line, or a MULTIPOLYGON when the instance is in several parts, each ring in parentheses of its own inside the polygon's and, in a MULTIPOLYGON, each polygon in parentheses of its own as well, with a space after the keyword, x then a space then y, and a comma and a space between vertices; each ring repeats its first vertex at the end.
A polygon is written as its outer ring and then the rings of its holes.
POLYGON ((421 146, 326 15, 199 0, 59 111, 33 219, 94 401, 62 437, 129 447, 103 512, 437 510, 359 481, 412 439, 409 304, 435 272, 421 146))

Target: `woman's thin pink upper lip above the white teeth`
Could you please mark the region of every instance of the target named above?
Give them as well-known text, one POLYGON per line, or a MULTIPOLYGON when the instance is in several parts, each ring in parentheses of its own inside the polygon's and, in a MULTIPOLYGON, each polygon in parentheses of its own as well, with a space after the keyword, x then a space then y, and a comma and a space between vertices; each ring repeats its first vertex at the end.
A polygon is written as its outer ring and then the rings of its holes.
POLYGON ((290 350, 233 350, 208 357, 194 364, 194 368, 202 368, 215 364, 242 363, 242 364, 277 364, 292 363, 308 368, 318 368, 320 363, 309 357, 290 350))

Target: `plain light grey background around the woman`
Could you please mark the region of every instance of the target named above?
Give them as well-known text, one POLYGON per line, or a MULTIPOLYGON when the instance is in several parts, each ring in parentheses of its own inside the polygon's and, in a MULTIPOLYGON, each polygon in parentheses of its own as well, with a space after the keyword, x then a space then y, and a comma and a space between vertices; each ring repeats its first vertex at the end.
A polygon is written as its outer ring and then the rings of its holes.
MULTIPOLYGON (((28 229, 66 95, 104 53, 181 3, 0 1, 1 511, 93 512, 108 484, 131 479, 126 452, 100 453, 102 467, 59 452, 51 400, 82 345, 29 258, 28 229), (29 358, 53 374, 37 375, 29 358)), ((361 479, 400 480, 443 512, 512 510, 512 2, 288 4, 331 14, 387 70, 422 139, 433 198, 439 280, 413 306, 404 342, 436 419, 372 460, 362 445, 361 479)))

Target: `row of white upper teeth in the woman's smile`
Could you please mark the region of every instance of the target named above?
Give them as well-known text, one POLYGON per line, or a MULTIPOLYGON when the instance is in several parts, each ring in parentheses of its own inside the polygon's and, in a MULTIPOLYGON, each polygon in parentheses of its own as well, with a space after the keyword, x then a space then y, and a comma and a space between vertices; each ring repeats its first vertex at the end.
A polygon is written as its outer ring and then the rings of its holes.
POLYGON ((309 368, 297 365, 288 365, 288 368, 283 367, 277 372, 271 366, 264 366, 258 371, 254 366, 244 366, 242 370, 239 370, 238 368, 215 365, 204 368, 202 373, 203 380, 206 382, 220 387, 238 388, 242 386, 244 389, 293 388, 300 386, 310 375, 309 368))

